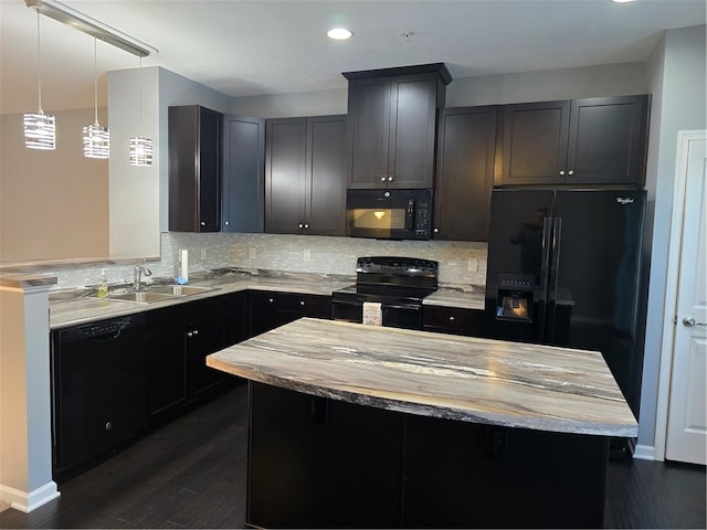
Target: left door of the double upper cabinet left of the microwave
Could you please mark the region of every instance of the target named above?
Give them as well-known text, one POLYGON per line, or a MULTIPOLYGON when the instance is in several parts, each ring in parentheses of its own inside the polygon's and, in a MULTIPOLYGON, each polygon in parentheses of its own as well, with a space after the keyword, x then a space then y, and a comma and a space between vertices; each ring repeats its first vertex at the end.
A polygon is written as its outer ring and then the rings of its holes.
POLYGON ((266 120, 265 231, 267 233, 298 234, 304 227, 306 127, 305 118, 266 120))

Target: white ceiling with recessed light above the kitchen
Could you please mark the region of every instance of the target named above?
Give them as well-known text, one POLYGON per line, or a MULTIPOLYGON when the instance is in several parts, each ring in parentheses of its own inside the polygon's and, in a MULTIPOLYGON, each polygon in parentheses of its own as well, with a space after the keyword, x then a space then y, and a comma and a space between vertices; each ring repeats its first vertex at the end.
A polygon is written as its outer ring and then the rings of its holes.
MULTIPOLYGON (((345 88, 341 72, 434 62, 454 78, 645 61, 705 0, 81 0, 63 3, 159 50, 159 65, 230 96, 345 88), (349 41, 326 31, 346 25, 349 41), (408 33, 405 38, 403 34, 408 33)), ((93 38, 41 17, 42 107, 94 102, 93 38)), ((98 41, 105 72, 139 66, 98 41)), ((38 107, 36 14, 0 0, 0 114, 38 107)))

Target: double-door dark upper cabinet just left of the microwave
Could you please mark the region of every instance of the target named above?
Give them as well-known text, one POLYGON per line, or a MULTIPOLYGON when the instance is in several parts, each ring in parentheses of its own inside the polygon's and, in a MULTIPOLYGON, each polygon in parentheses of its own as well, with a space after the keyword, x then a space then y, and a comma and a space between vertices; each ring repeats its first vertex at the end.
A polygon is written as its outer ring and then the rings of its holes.
POLYGON ((266 121, 267 233, 345 235, 346 116, 266 121))

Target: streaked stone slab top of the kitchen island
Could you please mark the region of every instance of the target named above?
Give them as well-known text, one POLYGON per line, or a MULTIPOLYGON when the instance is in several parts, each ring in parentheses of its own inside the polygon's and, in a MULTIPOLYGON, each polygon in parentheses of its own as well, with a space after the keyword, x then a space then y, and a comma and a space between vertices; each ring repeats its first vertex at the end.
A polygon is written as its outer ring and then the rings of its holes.
POLYGON ((302 318, 207 358, 274 386, 455 421, 600 436, 637 423, 600 352, 302 318))

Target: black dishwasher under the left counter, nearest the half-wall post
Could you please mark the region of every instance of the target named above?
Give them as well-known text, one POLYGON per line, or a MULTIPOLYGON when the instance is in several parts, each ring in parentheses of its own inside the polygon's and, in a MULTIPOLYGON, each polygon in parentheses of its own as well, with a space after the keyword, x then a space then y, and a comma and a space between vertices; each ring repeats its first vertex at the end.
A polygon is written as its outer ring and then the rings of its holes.
POLYGON ((54 478, 81 470, 147 425, 145 316, 52 332, 54 478))

